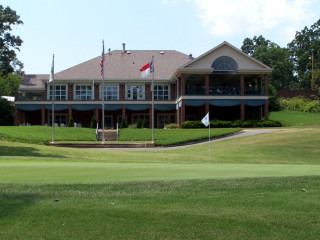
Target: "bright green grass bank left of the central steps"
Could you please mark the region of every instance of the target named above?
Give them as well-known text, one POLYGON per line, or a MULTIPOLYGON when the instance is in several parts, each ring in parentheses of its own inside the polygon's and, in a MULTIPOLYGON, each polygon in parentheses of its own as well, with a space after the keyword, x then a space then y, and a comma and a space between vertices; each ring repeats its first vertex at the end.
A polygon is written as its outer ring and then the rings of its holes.
MULTIPOLYGON (((90 128, 54 128, 56 141, 95 141, 95 131, 90 128)), ((44 126, 0 127, 0 139, 46 145, 51 141, 52 128, 44 126)))

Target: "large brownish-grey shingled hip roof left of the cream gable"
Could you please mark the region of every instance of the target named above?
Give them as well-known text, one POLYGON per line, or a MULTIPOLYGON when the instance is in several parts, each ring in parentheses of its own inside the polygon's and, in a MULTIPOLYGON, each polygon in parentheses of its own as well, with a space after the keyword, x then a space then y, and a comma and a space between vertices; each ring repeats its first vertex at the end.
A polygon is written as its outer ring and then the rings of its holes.
MULTIPOLYGON (((169 80, 180 66, 190 61, 189 56, 175 50, 121 50, 105 54, 104 77, 111 80, 141 79, 139 69, 154 55, 155 79, 169 80), (160 53, 160 52, 163 52, 160 53)), ((101 79, 100 56, 55 74, 55 79, 101 79)), ((151 79, 150 74, 146 79, 151 79)))

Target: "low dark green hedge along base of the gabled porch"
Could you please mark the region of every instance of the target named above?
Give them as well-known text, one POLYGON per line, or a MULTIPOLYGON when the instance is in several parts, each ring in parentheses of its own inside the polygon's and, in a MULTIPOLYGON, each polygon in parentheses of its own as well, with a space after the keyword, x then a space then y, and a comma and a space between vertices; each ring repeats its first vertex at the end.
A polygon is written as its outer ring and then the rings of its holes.
MULTIPOLYGON (((211 120, 211 128, 257 128, 257 127, 281 127, 281 123, 273 120, 211 120)), ((201 121, 185 121, 181 124, 181 128, 205 128, 201 121)))

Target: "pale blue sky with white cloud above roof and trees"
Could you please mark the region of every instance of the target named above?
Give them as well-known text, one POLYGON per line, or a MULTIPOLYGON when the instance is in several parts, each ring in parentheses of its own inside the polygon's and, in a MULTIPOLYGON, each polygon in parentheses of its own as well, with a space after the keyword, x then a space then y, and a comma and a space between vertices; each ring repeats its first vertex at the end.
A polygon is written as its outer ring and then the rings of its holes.
MULTIPOLYGON (((17 53, 27 74, 49 74, 105 49, 177 50, 194 57, 223 41, 263 35, 286 47, 320 15, 318 0, 2 0, 24 22, 17 53)), ((151 58, 151 56, 150 56, 151 58)), ((99 64, 99 63, 97 63, 99 64)))

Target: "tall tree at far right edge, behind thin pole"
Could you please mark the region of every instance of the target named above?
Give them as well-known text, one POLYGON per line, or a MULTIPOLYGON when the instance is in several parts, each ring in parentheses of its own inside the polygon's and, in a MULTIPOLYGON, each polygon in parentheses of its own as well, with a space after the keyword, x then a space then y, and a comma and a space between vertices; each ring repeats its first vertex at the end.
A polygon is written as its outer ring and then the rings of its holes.
POLYGON ((288 44, 291 58, 299 80, 299 88, 311 89, 312 49, 314 69, 320 69, 320 19, 310 28, 296 32, 294 40, 288 44))

